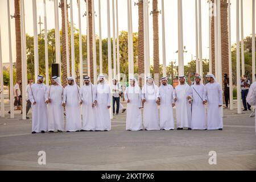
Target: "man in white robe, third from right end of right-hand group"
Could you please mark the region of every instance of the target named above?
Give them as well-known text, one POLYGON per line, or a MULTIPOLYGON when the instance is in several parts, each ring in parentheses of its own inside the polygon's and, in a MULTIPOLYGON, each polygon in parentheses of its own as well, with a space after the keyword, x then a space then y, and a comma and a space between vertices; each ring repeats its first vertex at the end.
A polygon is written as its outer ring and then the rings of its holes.
POLYGON ((183 127, 187 127, 191 130, 191 101, 190 87, 185 81, 185 76, 179 77, 180 84, 175 88, 176 102, 176 117, 177 117, 177 130, 183 130, 183 127))

